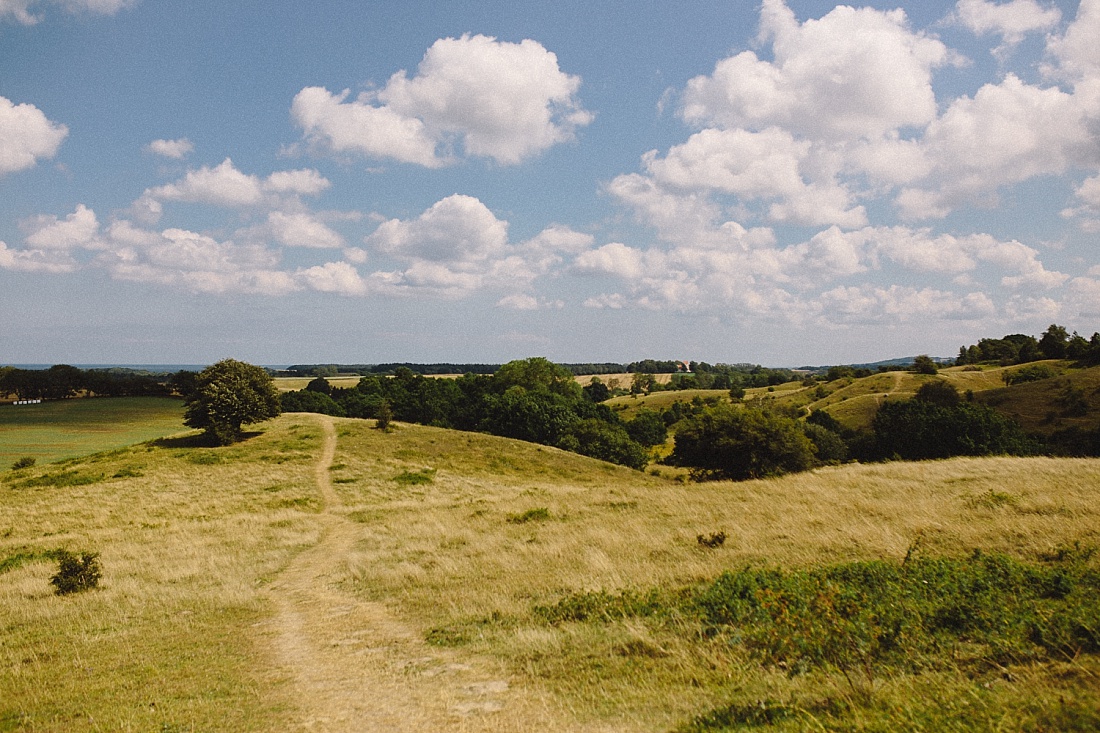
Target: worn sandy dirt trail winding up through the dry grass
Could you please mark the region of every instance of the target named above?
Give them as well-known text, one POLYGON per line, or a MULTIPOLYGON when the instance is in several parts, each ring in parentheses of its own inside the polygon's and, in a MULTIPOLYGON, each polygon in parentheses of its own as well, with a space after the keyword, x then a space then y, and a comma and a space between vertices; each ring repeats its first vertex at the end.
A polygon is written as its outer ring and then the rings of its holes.
MULTIPOLYGON (((323 499, 320 537, 272 586, 277 612, 270 634, 276 663, 298 703, 298 727, 331 733, 507 730, 509 682, 476 661, 429 647, 381 603, 341 588, 362 525, 345 518, 332 490, 333 422, 315 470, 323 499)), ((497 672, 498 675, 499 672, 497 672)), ((524 707, 520 703, 518 707, 524 707)))

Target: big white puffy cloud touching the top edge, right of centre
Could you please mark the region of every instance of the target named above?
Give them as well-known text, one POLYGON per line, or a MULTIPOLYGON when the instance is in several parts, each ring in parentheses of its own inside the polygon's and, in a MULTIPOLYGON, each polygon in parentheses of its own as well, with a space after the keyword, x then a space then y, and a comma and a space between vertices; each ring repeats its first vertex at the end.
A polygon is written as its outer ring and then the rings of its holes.
POLYGON ((800 24, 782 0, 765 0, 760 37, 771 42, 774 61, 744 52, 689 81, 686 121, 851 139, 935 117, 932 69, 950 56, 939 41, 910 30, 904 11, 840 6, 800 24))

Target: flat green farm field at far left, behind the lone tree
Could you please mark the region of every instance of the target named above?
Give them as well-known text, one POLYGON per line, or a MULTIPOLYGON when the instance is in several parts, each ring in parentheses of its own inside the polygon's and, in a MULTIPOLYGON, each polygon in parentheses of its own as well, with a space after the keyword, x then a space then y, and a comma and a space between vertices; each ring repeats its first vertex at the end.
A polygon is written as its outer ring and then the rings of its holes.
POLYGON ((186 430, 184 403, 169 397, 61 400, 0 405, 0 470, 16 459, 47 463, 186 430))

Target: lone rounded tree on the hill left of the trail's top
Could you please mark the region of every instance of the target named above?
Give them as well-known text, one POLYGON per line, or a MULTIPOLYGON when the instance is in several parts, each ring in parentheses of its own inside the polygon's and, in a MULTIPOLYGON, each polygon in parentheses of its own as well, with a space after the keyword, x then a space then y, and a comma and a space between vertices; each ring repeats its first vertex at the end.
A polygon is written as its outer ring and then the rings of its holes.
POLYGON ((279 414, 275 381, 262 368, 234 359, 207 366, 186 398, 184 425, 205 430, 218 446, 241 439, 241 426, 279 414))

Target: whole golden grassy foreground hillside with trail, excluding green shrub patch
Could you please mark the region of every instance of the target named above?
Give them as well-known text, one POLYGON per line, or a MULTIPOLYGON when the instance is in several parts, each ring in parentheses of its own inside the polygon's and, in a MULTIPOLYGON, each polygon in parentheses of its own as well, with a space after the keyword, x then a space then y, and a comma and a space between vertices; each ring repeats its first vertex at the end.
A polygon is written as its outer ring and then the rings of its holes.
POLYGON ((959 647, 853 687, 701 633, 682 599, 746 565, 899 565, 914 547, 1042 565, 1100 541, 1097 486, 1100 461, 1069 459, 682 485, 315 415, 230 448, 7 471, 0 730, 1091 730, 1094 655, 990 666, 959 647), (102 587, 53 595, 58 547, 99 551, 102 587), (659 612, 601 615, 635 595, 659 612), (594 616, 559 613, 591 599, 594 616))

